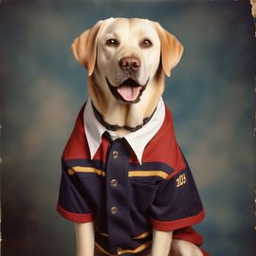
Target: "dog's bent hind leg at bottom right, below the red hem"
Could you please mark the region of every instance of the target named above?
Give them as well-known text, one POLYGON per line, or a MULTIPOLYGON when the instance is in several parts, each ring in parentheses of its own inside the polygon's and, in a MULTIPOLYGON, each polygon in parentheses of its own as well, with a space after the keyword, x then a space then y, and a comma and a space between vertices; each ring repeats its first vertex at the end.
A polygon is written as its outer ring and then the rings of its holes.
POLYGON ((190 242, 173 239, 169 256, 203 256, 203 253, 190 242))

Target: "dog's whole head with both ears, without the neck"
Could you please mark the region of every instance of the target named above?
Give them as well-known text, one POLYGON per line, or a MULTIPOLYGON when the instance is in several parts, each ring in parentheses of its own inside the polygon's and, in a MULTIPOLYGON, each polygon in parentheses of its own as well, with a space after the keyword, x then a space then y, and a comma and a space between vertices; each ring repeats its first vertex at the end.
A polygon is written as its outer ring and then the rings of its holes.
POLYGON ((98 73, 118 101, 135 103, 155 78, 159 64, 171 75, 183 46, 158 23, 110 18, 83 32, 72 50, 88 75, 98 73))

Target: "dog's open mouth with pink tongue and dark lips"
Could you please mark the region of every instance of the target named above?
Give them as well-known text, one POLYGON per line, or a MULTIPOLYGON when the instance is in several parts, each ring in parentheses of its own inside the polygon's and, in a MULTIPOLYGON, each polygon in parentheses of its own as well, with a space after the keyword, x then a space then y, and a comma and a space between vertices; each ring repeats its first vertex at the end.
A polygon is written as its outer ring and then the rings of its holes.
POLYGON ((139 84, 132 78, 129 78, 124 82, 121 82, 118 86, 114 86, 113 84, 111 84, 108 78, 106 78, 106 82, 112 95, 118 101, 127 104, 134 104, 140 101, 140 97, 143 91, 146 89, 149 79, 143 85, 139 84))

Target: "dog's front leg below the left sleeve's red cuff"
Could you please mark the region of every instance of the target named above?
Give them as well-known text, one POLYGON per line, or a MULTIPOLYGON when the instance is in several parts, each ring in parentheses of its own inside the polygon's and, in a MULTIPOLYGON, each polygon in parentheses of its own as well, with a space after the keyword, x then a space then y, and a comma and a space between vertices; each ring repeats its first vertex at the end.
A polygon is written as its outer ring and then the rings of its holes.
POLYGON ((77 256, 94 255, 94 225, 89 223, 76 223, 77 256))

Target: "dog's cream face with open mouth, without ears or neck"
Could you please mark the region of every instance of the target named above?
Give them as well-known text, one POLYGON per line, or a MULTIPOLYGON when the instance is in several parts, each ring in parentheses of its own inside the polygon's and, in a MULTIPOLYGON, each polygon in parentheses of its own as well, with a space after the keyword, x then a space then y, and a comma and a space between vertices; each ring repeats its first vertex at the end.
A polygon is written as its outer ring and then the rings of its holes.
POLYGON ((98 37, 96 78, 122 103, 136 103, 155 77, 160 40, 147 20, 115 19, 98 37))

